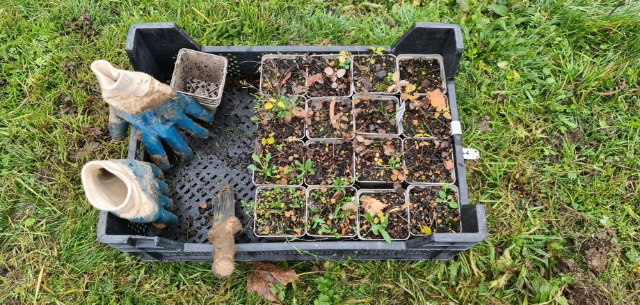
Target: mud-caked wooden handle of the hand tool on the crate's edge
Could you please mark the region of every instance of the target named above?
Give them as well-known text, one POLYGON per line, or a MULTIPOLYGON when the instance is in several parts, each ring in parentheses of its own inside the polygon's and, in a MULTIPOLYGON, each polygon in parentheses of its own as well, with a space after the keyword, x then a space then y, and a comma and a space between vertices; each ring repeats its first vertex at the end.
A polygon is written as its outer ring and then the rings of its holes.
POLYGON ((233 235, 241 229, 240 221, 236 217, 231 217, 215 228, 211 228, 207 234, 209 242, 214 244, 214 263, 211 265, 211 272, 214 272, 218 278, 233 273, 236 256, 233 235))

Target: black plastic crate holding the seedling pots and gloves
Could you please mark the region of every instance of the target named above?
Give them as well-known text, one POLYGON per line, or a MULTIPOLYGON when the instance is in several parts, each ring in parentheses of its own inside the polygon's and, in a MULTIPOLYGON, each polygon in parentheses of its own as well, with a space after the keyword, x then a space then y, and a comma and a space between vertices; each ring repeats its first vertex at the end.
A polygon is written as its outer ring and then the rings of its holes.
MULTIPOLYGON (((211 222, 211 203, 225 184, 236 191, 236 214, 245 229, 236 235, 236 260, 447 260, 469 249, 486 237, 484 205, 470 205, 461 134, 454 134, 456 183, 461 205, 461 233, 435 233, 407 241, 296 240, 267 242, 253 235, 250 217, 239 201, 253 201, 256 186, 246 167, 253 152, 255 123, 254 98, 243 84, 258 86, 258 68, 264 54, 335 54, 342 50, 366 54, 367 46, 255 46, 201 47, 174 23, 134 24, 129 28, 125 49, 134 70, 147 72, 161 81, 170 81, 179 49, 189 48, 225 56, 229 61, 227 84, 216 121, 207 126, 212 135, 207 140, 185 136, 195 157, 176 164, 166 173, 173 193, 173 212, 179 225, 159 230, 150 224, 134 224, 100 212, 99 242, 129 252, 142 260, 201 261, 211 260, 207 230, 211 222), (241 83, 246 81, 246 83, 241 83), (208 203, 206 209, 199 203, 208 203)), ((395 45, 386 46, 391 54, 440 54, 444 58, 447 97, 453 121, 458 120, 454 77, 463 52, 460 27, 456 24, 416 23, 395 45)), ((131 130, 129 157, 149 161, 131 130)), ((170 154, 170 150, 167 150, 170 154)), ((175 158, 170 156, 170 159, 175 158)), ((406 187, 406 185, 405 185, 406 187)))

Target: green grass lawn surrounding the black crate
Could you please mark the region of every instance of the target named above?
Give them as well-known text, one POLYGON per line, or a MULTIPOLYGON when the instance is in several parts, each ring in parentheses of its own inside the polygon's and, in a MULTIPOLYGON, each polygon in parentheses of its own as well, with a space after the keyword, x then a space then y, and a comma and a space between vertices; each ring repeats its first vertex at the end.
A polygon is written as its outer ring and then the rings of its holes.
POLYGON ((428 21, 463 29, 487 240, 447 262, 283 263, 301 274, 285 303, 640 304, 640 1, 206 2, 2 1, 0 302, 266 303, 246 293, 249 264, 218 280, 96 241, 79 170, 127 143, 111 142, 89 65, 130 68, 131 24, 177 22, 201 45, 390 45, 428 21))

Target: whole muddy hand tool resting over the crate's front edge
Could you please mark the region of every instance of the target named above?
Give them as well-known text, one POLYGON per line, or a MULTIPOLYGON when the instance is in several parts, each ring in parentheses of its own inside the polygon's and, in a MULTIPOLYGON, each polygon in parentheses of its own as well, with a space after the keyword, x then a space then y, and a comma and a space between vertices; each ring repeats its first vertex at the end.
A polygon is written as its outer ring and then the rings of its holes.
POLYGON ((235 268, 236 244, 233 235, 242 229, 240 221, 235 217, 235 199, 233 188, 224 185, 218 194, 218 202, 214 205, 211 229, 207 233, 209 242, 214 245, 214 263, 211 272, 218 278, 233 273, 235 268))

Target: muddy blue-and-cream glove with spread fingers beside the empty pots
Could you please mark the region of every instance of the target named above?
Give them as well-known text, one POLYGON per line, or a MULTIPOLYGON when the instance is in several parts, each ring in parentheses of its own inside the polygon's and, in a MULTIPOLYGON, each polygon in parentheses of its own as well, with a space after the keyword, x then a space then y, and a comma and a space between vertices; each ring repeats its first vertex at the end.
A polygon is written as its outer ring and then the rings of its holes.
POLYGON ((113 139, 124 139, 128 123, 133 124, 140 130, 141 141, 152 161, 163 171, 171 164, 160 139, 181 159, 193 158, 193 151, 175 125, 200 138, 209 136, 209 131, 189 116, 207 123, 212 122, 214 116, 193 98, 175 93, 170 86, 143 72, 113 68, 108 61, 94 61, 91 70, 102 88, 102 98, 109 104, 109 133, 113 139))

